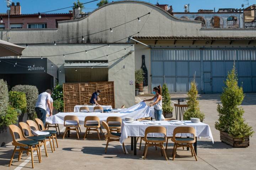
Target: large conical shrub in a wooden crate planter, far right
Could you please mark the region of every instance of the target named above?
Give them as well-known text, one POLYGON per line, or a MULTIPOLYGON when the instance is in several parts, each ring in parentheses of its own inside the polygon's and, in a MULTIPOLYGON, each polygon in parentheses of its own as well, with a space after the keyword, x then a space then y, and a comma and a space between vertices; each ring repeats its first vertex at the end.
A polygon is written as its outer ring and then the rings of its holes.
POLYGON ((215 129, 220 131, 220 140, 233 147, 248 147, 249 136, 254 131, 245 123, 244 109, 239 107, 244 100, 244 92, 238 86, 235 66, 228 72, 220 100, 222 104, 217 107, 219 120, 215 122, 215 129))

